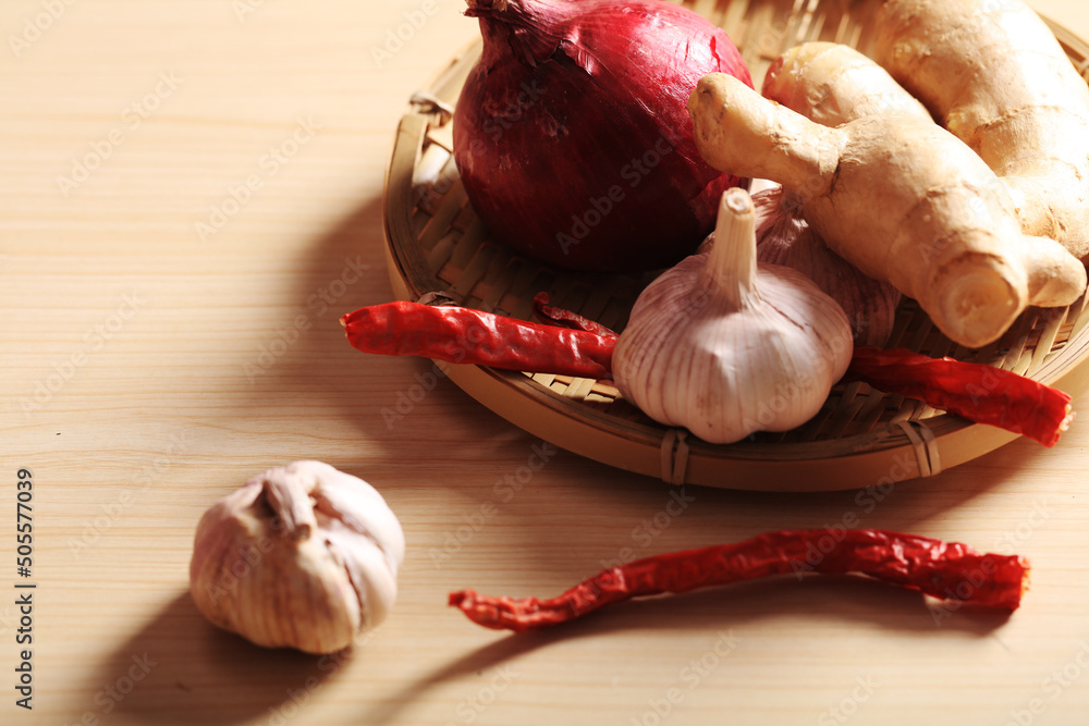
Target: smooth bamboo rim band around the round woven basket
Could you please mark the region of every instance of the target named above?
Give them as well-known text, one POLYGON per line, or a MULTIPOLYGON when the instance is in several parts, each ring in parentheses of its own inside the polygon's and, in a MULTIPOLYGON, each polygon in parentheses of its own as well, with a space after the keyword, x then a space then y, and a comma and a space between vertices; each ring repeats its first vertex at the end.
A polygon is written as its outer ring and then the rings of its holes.
MULTIPOLYGON (((1082 77, 1089 67, 1089 44, 1061 24, 1041 16, 1055 33, 1082 77)), ((456 71, 475 62, 482 47, 480 38, 466 44, 425 85, 426 98, 436 98, 451 83, 456 71)), ((460 85, 458 85, 460 87, 460 85)), ((426 104, 425 104, 426 106, 426 104)), ((418 162, 431 124, 450 110, 421 108, 419 94, 413 96, 401 118, 393 151, 387 164, 382 207, 388 274, 397 299, 415 300, 445 287, 433 274, 419 281, 411 270, 426 267, 414 239, 403 239, 399 230, 407 219, 394 219, 397 210, 411 217, 413 206, 399 206, 412 198, 415 162, 418 162), (402 163, 397 163, 401 161, 402 163)), ((411 225, 409 225, 411 226, 411 225)), ((562 273, 562 271, 560 271, 562 273)), ((1082 315, 1089 316, 1089 311, 1082 315)), ((1054 352, 1054 348, 1052 348, 1054 352)), ((1089 325, 1081 327, 1064 343, 1064 350, 1045 360, 1031 378, 1062 386, 1073 397, 1089 390, 1089 325), (1072 355, 1064 355, 1073 349, 1072 355)), ((925 419, 925 423, 889 423, 835 440, 810 442, 711 444, 683 429, 654 422, 628 421, 594 410, 582 402, 561 396, 530 374, 474 365, 443 364, 451 381, 502 418, 528 433, 599 463, 635 473, 661 478, 674 484, 698 484, 750 491, 832 491, 860 489, 881 482, 906 481, 935 476, 1005 445, 1019 436, 1002 429, 974 423, 950 414, 925 419), (576 415, 577 414, 577 415, 576 415), (827 453, 836 444, 846 450, 827 453), (768 450, 776 456, 768 456, 768 450), (844 464, 851 464, 851 476, 844 464), (792 476, 793 475, 793 476, 792 476), (746 481, 738 484, 737 481, 746 481)))

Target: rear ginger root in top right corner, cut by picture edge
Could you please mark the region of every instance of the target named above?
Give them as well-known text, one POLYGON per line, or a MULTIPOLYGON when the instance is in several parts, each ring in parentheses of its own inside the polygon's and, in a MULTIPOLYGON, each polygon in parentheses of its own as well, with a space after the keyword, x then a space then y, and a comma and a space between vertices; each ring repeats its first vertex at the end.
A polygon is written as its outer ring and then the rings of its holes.
POLYGON ((885 0, 871 54, 1013 193, 1021 229, 1089 260, 1089 86, 1020 0, 885 0))

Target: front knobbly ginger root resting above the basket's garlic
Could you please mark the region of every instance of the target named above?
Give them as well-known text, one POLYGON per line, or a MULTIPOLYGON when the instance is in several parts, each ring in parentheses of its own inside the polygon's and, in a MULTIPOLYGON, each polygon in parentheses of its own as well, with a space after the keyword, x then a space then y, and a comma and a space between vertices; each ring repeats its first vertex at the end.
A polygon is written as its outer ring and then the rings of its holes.
POLYGON ((782 184, 833 250, 915 298, 956 343, 987 345, 1027 306, 1069 305, 1086 287, 1081 263, 1023 234, 994 173, 931 121, 823 126, 718 73, 688 113, 709 164, 782 184))

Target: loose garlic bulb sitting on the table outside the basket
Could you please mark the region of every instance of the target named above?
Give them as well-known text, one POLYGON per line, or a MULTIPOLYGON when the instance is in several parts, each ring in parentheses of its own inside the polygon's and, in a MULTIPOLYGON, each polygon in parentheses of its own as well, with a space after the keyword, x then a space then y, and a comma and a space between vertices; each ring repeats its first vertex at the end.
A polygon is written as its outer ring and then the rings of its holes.
POLYGON ((370 484, 321 462, 269 469, 197 526, 189 589, 215 625, 332 653, 389 614, 404 532, 370 484))

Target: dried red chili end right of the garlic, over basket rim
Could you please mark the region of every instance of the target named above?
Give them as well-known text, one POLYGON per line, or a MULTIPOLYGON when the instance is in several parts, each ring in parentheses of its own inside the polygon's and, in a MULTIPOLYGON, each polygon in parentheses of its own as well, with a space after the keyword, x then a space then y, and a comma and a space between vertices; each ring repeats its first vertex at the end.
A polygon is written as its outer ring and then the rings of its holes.
POLYGON ((1025 434, 1049 447, 1074 418, 1070 396, 1049 385, 994 366, 910 350, 856 345, 845 378, 1025 434))

